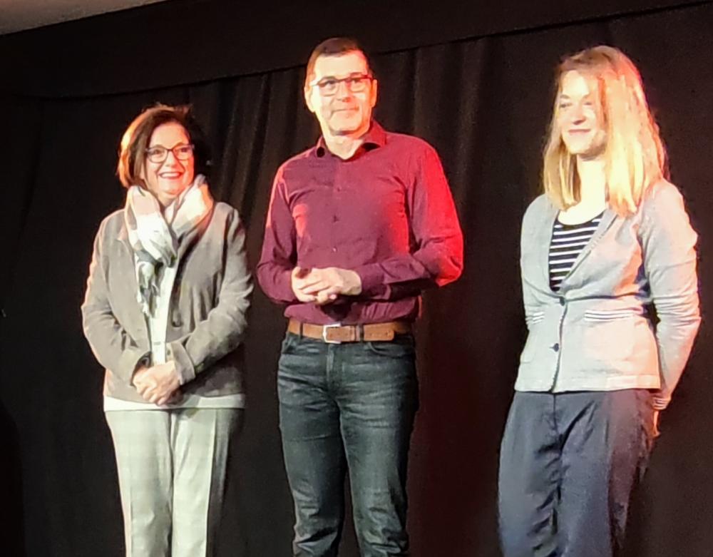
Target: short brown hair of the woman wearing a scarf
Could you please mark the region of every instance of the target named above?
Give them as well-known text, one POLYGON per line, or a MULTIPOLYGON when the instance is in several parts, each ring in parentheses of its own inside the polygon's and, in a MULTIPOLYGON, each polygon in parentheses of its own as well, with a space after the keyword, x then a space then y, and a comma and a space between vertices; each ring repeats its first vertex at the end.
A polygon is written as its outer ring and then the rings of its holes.
POLYGON ((183 126, 190 143, 193 144, 195 173, 207 176, 210 165, 207 142, 200 126, 190 113, 190 106, 168 106, 159 103, 145 109, 134 118, 121 138, 116 173, 124 188, 130 188, 132 185, 145 187, 141 179, 141 170, 146 162, 145 153, 151 134, 158 126, 170 122, 183 126))

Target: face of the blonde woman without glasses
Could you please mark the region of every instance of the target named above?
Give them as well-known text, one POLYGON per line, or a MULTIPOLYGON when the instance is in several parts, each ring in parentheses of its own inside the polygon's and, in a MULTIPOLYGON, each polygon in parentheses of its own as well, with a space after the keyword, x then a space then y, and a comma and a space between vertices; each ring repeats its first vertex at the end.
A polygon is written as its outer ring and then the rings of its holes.
POLYGON ((578 71, 568 71, 562 76, 557 103, 557 125, 570 155, 602 155, 607 133, 597 81, 578 71))

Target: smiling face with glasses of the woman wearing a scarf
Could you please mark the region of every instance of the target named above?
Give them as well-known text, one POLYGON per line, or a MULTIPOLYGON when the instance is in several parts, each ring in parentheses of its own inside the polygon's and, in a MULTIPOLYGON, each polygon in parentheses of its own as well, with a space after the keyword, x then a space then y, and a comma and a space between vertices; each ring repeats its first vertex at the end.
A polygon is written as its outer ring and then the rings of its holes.
POLYGON ((141 178, 161 205, 166 206, 193 183, 194 165, 188 132, 180 123, 168 122, 151 134, 141 178))

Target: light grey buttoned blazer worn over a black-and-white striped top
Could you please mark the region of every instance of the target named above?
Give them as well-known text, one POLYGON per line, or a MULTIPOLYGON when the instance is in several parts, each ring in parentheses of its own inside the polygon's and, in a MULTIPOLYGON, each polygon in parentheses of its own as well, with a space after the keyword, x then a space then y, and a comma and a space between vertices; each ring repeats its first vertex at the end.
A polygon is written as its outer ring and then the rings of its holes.
POLYGON ((548 254, 557 215, 540 195, 523 218, 528 340, 515 389, 660 389, 667 402, 700 323, 697 235, 681 194, 662 180, 634 215, 624 218, 607 208, 555 293, 548 254))

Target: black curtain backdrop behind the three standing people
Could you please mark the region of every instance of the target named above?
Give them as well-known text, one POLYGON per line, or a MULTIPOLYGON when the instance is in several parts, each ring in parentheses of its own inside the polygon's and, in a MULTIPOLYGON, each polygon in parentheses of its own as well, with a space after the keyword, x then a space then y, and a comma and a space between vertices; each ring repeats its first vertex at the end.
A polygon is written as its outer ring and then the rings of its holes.
MULTIPOLYGON (((168 11, 163 13, 185 26, 184 18, 195 15, 190 10, 208 4, 175 0, 165 3, 168 11)), ((359 12, 369 4, 349 6, 359 12)), ((508 5, 511 11, 519 9, 508 5)), ((160 14, 158 6, 150 6, 147 17, 160 14)), ((470 29, 470 38, 463 36, 468 29, 458 24, 457 11, 436 20, 453 24, 451 36, 440 28, 410 34, 409 29, 429 27, 421 19, 424 13, 402 9, 386 17, 379 12, 386 21, 407 18, 396 39, 409 41, 396 49, 391 47, 397 43, 382 41, 376 48, 376 118, 386 128, 421 136, 438 149, 466 235, 463 277, 426 294, 419 324, 421 410, 409 476, 414 557, 500 554, 498 444, 525 334, 520 219, 538 192, 553 68, 563 54, 600 43, 619 46, 638 63, 667 143, 672 181, 682 190, 700 235, 704 325, 689 369, 662 417, 663 434, 632 511, 628 554, 713 553, 713 380, 708 369, 713 350, 711 327, 705 322, 713 310, 713 179, 708 172, 713 6, 634 7, 638 11, 616 14, 585 10, 583 14, 597 19, 562 24, 578 19, 570 5, 564 19, 533 20, 545 27, 524 29, 530 26, 513 16, 508 25, 514 31, 470 29)), ((264 6, 252 9, 267 13, 264 6)), ((506 13, 502 5, 498 10, 506 13)), ((279 12, 277 21, 286 21, 285 13, 292 12, 279 12)), ((77 67, 88 71, 88 60, 102 59, 96 44, 105 39, 114 44, 127 19, 140 19, 139 11, 127 14, 116 16, 114 34, 107 16, 0 39, 1 63, 11 70, 3 74, 5 93, 0 96, 5 108, 0 117, 0 472, 6 478, 0 534, 3 547, 9 548, 2 553, 9 556, 123 555, 116 464, 101 410, 103 374, 83 339, 79 306, 93 235, 103 216, 123 204, 114 168, 125 126, 156 101, 193 104, 215 153, 212 191, 240 210, 255 265, 275 170, 317 139, 314 117, 302 101, 301 66, 309 47, 329 34, 359 36, 363 31, 373 38, 374 28, 383 24, 374 21, 369 27, 369 18, 361 14, 359 29, 335 23, 325 33, 324 25, 303 30, 296 25, 292 36, 275 40, 302 44, 299 56, 289 51, 281 58, 289 63, 268 56, 263 63, 272 67, 263 71, 253 66, 245 73, 235 66, 232 77, 219 78, 227 66, 219 58, 203 58, 202 53, 212 51, 200 48, 213 41, 222 44, 225 37, 203 33, 180 37, 196 49, 183 64, 172 58, 171 41, 150 44, 165 54, 174 81, 163 79, 169 76, 162 73, 163 66, 153 68, 160 79, 145 81, 154 74, 140 60, 132 61, 140 79, 130 81, 126 61, 119 63, 116 56, 91 68, 86 80, 80 78, 77 67), (93 22, 98 31, 90 34, 93 22), (76 67, 75 55, 53 53, 44 42, 66 29, 73 31, 72 45, 81 44, 83 37, 91 51, 76 53, 76 67), (34 44, 29 53, 19 48, 29 44, 34 44), (58 64, 51 68, 54 83, 32 76, 31 64, 19 68, 23 56, 31 60, 43 46, 47 59, 58 64), (112 64, 128 81, 98 77, 111 76, 112 64)), ((242 28, 247 29, 245 21, 242 28)), ((250 37, 258 35, 250 29, 250 37)), ((270 52, 277 51, 273 45, 270 52)), ((260 49, 251 56, 259 57, 260 49)), ((284 325, 281 310, 258 290, 247 339, 249 409, 231 463, 221 556, 290 554, 292 501, 279 448, 275 392, 284 325)), ((341 555, 358 555, 351 527, 341 555)))

